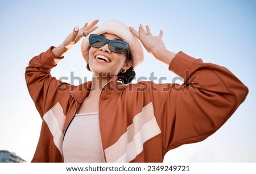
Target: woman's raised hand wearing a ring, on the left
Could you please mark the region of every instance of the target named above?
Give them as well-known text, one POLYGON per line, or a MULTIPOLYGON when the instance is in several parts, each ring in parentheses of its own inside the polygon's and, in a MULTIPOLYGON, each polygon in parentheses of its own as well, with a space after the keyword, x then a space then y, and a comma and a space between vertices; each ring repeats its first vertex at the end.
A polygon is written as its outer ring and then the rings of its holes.
MULTIPOLYGON (((98 28, 96 24, 98 20, 94 20, 92 23, 88 25, 88 22, 85 23, 84 27, 80 28, 76 26, 73 29, 73 32, 67 36, 67 38, 61 43, 58 47, 52 49, 52 53, 55 57, 62 57, 65 53, 67 53, 73 46, 79 42, 83 37, 83 33, 87 36, 90 32, 96 30, 98 28)), ((58 61, 57 59, 55 61, 58 61)), ((57 63, 57 62, 56 62, 57 63)))

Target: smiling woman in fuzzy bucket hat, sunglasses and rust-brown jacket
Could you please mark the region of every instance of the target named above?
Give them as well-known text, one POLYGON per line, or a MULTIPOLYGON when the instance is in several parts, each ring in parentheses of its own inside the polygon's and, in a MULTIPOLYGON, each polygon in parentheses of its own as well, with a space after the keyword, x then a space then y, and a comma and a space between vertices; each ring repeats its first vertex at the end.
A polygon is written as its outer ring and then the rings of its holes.
POLYGON ((28 90, 42 119, 32 162, 162 162, 169 150, 204 140, 245 100, 247 88, 228 69, 168 51, 153 36, 110 20, 73 32, 26 68, 28 90), (92 81, 57 81, 51 68, 79 40, 92 81), (130 84, 143 49, 184 84, 130 84), (186 74, 189 73, 189 76, 186 74))

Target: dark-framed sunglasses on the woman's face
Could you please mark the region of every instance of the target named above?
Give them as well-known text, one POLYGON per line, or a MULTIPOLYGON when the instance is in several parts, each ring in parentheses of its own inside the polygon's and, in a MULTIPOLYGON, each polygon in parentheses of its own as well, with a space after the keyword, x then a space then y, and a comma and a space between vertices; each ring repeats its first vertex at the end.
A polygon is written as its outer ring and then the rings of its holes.
POLYGON ((116 53, 123 53, 127 49, 128 55, 129 55, 129 49, 128 49, 129 43, 124 42, 122 40, 109 40, 104 38, 104 36, 91 34, 89 36, 89 43, 90 43, 90 46, 96 47, 96 48, 101 48, 106 43, 109 43, 110 51, 113 51, 116 53))

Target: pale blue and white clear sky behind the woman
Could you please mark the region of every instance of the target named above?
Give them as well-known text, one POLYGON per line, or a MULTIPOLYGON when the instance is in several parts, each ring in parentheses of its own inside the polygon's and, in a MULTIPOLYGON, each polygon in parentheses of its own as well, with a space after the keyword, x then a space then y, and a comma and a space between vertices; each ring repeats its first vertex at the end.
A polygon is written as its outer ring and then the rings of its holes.
MULTIPOLYGON (((164 162, 256 162, 256 2, 227 1, 0 1, 0 150, 30 161, 41 119, 24 80, 28 61, 59 45, 85 22, 118 19, 137 28, 148 24, 152 34, 163 30, 170 51, 183 51, 204 62, 222 65, 249 88, 245 102, 215 134, 200 143, 167 153, 164 162)), ((77 44, 53 69, 57 78, 89 77, 77 44)), ((145 51, 137 77, 176 76, 145 51)), ((69 81, 72 82, 72 81, 69 81)), ((83 81, 84 82, 84 81, 83 81)), ((154 82, 158 82, 155 80, 154 82)), ((179 81, 177 81, 179 82, 179 81)), ((72 83, 78 84, 78 81, 72 83)))

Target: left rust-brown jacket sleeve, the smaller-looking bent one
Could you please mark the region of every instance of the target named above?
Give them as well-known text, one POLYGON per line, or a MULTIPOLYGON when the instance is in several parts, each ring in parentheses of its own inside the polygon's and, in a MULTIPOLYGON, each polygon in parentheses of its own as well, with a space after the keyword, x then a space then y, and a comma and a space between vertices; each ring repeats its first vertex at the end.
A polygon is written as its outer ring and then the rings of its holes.
POLYGON ((60 98, 60 95, 67 92, 69 88, 69 84, 51 76, 51 69, 56 67, 54 59, 63 59, 63 57, 55 57, 51 51, 52 48, 33 57, 25 71, 28 92, 41 117, 56 104, 57 98, 60 98))

